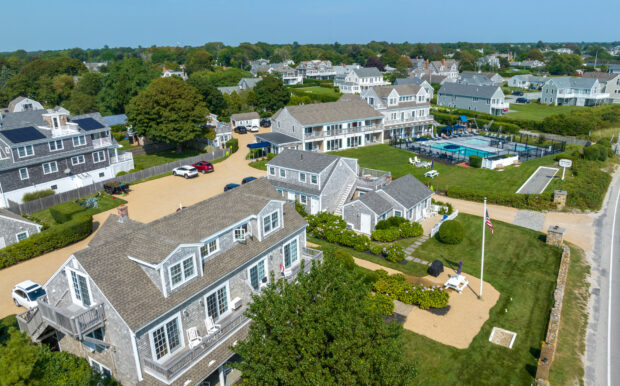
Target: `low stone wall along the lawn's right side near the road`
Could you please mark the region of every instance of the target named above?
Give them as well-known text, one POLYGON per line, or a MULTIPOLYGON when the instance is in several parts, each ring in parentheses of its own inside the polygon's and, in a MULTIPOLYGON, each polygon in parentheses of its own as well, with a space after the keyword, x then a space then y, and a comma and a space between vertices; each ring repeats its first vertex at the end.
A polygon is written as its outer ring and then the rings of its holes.
POLYGON ((560 317, 562 315, 562 301, 564 300, 564 289, 566 287, 566 278, 570 266, 570 249, 562 246, 562 260, 560 262, 560 270, 553 292, 553 308, 549 316, 549 326, 547 327, 547 335, 543 346, 540 350, 540 358, 538 359, 538 369, 536 371, 536 384, 549 385, 549 370, 555 355, 555 349, 558 344, 558 334, 560 331, 560 317))

